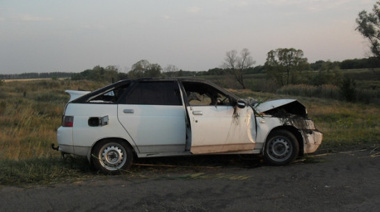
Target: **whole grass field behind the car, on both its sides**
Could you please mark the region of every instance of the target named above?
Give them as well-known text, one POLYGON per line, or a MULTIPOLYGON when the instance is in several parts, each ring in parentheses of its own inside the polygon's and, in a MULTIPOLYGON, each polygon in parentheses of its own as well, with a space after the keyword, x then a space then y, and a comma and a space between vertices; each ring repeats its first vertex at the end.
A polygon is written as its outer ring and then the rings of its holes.
MULTIPOLYGON (((69 79, 3 82, 0 85, 0 185, 51 183, 65 181, 68 176, 86 178, 91 173, 86 159, 63 161, 51 144, 56 144, 56 129, 61 125, 63 108, 69 99, 65 90, 95 90, 103 85, 69 79)), ((317 129, 324 133, 320 149, 380 144, 378 104, 231 91, 239 97, 260 101, 299 99, 308 108, 317 129)))

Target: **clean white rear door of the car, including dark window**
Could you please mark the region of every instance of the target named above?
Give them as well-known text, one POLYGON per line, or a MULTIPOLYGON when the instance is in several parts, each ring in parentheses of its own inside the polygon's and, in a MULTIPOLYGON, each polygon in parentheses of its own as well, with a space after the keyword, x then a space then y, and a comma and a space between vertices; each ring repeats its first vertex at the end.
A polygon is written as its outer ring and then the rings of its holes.
POLYGON ((182 102, 176 81, 142 81, 118 104, 118 119, 139 153, 184 152, 182 102))

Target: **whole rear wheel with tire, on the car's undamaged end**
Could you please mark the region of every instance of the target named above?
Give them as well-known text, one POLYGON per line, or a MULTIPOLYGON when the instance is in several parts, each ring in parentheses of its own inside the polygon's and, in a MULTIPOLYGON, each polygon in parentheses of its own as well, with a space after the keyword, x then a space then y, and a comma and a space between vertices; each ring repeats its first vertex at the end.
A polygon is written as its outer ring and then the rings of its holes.
POLYGON ((120 140, 102 140, 93 148, 93 165, 104 174, 120 174, 122 170, 127 170, 133 161, 132 148, 120 140))

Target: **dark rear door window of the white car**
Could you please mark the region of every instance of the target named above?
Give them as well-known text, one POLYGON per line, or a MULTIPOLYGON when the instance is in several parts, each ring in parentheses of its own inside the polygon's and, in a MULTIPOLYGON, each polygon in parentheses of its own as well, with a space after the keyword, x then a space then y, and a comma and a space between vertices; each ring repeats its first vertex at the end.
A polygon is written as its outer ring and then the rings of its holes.
POLYGON ((140 82, 127 96, 126 104, 180 106, 180 88, 174 81, 140 82))

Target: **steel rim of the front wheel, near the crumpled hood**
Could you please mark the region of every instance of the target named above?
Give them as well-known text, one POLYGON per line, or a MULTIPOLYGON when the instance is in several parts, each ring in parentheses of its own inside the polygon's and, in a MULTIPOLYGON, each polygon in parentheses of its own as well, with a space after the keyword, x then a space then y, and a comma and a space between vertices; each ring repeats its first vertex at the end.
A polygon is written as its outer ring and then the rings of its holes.
POLYGON ((271 139, 268 148, 269 157, 274 161, 286 161, 292 154, 292 145, 284 137, 271 139))

